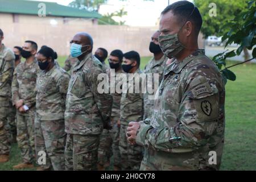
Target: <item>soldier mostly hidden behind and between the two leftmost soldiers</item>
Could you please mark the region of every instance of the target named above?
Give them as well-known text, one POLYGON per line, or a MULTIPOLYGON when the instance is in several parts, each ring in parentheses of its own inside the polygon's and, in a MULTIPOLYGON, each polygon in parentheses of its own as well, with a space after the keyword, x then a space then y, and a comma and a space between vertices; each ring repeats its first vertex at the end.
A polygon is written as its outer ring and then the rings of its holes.
MULTIPOLYGON (((15 46, 13 48, 13 52, 15 55, 15 63, 14 63, 14 67, 16 68, 17 65, 20 63, 21 61, 21 52, 22 52, 22 48, 19 46, 15 46)), ((16 127, 16 108, 13 105, 13 102, 11 102, 10 99, 10 113, 8 115, 8 125, 9 125, 9 135, 10 135, 10 142, 11 143, 16 143, 16 137, 17 137, 17 127, 16 127)))

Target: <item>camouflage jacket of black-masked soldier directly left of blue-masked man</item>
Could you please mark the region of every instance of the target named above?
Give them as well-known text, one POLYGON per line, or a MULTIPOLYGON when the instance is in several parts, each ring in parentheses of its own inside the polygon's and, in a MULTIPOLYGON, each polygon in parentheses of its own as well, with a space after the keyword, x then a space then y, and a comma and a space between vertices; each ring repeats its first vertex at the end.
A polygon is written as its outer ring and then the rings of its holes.
POLYGON ((40 71, 36 81, 36 113, 41 121, 64 119, 69 75, 59 65, 40 71))

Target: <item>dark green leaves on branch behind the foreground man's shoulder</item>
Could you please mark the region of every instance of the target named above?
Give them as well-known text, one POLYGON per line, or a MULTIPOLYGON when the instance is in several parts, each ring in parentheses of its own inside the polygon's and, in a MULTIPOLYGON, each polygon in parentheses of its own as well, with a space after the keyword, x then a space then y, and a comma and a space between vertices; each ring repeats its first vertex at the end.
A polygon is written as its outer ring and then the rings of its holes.
MULTIPOLYGON (((233 20, 224 24, 221 27, 221 30, 226 30, 222 34, 222 42, 226 40, 225 47, 230 43, 240 44, 236 50, 230 52, 218 53, 213 57, 214 63, 221 70, 224 77, 224 81, 227 80, 236 80, 236 75, 230 71, 228 68, 236 66, 238 64, 232 65, 226 68, 226 59, 229 57, 234 57, 240 55, 243 49, 252 49, 256 44, 256 0, 250 1, 247 3, 247 9, 240 11, 236 14, 233 20)), ((253 58, 256 57, 256 48, 253 48, 253 58)), ((251 59, 252 60, 252 59, 251 59)), ((250 61, 247 60, 247 61, 250 61)), ((245 62, 247 62, 245 61, 245 62)), ((242 63, 239 63, 242 64, 242 63)))

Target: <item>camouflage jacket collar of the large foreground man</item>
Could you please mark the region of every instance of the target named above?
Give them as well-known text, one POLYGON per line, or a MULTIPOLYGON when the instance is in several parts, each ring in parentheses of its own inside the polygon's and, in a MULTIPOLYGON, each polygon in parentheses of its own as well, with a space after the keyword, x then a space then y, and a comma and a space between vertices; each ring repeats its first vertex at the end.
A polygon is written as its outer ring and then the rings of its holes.
POLYGON ((170 73, 171 71, 174 73, 181 72, 181 70, 185 67, 185 65, 187 65, 190 61, 195 59, 197 56, 204 55, 204 54, 205 54, 204 49, 197 49, 191 55, 185 57, 185 59, 181 62, 177 62, 177 60, 175 59, 170 65, 168 65, 166 74, 164 75, 168 75, 168 73, 170 73))

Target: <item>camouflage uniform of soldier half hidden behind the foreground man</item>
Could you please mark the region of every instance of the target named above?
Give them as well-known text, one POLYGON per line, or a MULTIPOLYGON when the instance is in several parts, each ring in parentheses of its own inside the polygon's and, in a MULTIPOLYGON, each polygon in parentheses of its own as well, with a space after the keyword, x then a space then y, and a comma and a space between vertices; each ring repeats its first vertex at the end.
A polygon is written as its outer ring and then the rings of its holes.
MULTIPOLYGON (((159 83, 163 79, 164 67, 166 65, 166 61, 168 57, 162 56, 160 60, 155 60, 154 57, 148 62, 146 65, 143 73, 158 73, 159 74, 159 83)), ((154 78, 154 77, 153 77, 154 78)), ((154 85, 154 81, 152 81, 152 86, 154 85)), ((154 88, 154 87, 152 87, 154 88)), ((151 117, 151 114, 154 110, 154 99, 148 99, 150 94, 144 93, 143 94, 143 102, 144 102, 144 119, 151 117)))

